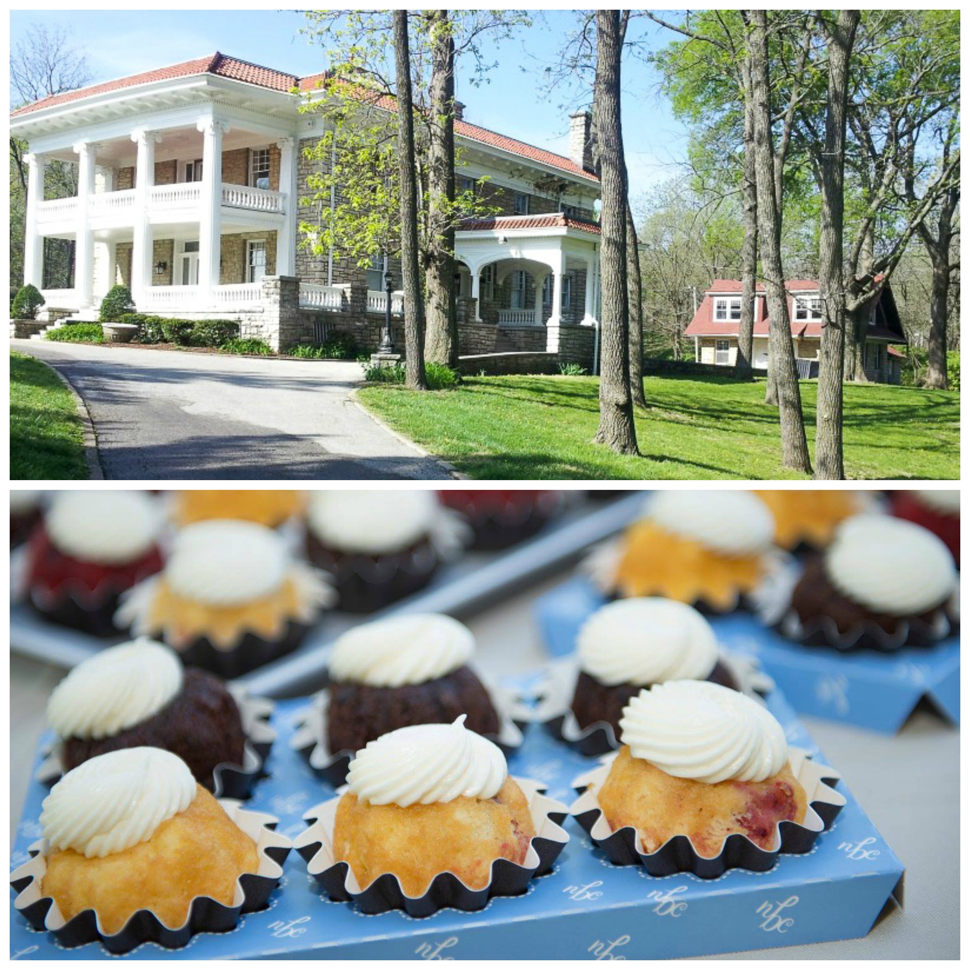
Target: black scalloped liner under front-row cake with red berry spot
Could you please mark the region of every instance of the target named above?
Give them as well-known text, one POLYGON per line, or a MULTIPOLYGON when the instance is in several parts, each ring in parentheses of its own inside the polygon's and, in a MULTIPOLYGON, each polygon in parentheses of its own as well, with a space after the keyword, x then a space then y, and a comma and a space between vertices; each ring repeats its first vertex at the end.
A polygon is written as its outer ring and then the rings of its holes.
MULTIPOLYGON (((826 784, 836 779, 822 778, 826 784)), ((577 789, 585 792, 585 789, 577 789)), ((841 805, 827 802, 810 802, 822 819, 823 831, 831 826, 842 810, 841 805)), ((675 835, 655 853, 641 853, 636 848, 636 829, 625 825, 605 839, 593 836, 593 826, 602 815, 601 808, 581 812, 573 818, 583 826, 594 844, 601 849, 614 865, 642 865, 651 876, 672 876, 678 872, 691 872, 699 879, 718 879, 728 869, 746 869, 751 872, 768 872, 773 869, 781 855, 802 856, 811 852, 822 832, 814 832, 804 825, 788 820, 778 824, 781 845, 774 852, 761 849, 747 836, 733 833, 725 839, 720 854, 714 858, 699 856, 694 843, 686 835, 675 835)))

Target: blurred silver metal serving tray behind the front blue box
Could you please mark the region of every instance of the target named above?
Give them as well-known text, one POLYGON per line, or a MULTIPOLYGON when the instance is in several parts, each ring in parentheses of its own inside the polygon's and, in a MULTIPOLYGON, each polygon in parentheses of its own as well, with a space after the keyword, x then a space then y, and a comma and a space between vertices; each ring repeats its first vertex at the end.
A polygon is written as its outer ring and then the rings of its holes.
MULTIPOLYGON (((568 565, 589 546, 620 532, 637 517, 642 502, 643 493, 639 491, 602 504, 576 497, 563 515, 533 538, 497 553, 466 553, 438 570, 431 585, 416 596, 368 617, 339 610, 328 613, 296 653, 267 663, 240 680, 255 695, 308 694, 322 685, 329 645, 344 630, 367 619, 407 612, 472 615, 503 594, 521 591, 568 565)), ((29 606, 11 606, 11 650, 44 663, 73 667, 121 639, 102 639, 58 627, 47 623, 29 606)))

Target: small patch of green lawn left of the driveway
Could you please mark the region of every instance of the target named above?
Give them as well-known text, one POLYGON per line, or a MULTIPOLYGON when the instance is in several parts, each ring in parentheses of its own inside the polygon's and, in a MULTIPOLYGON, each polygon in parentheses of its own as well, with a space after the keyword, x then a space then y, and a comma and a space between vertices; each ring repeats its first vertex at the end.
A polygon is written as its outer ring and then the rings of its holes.
POLYGON ((10 355, 10 477, 86 478, 81 419, 46 364, 10 355))

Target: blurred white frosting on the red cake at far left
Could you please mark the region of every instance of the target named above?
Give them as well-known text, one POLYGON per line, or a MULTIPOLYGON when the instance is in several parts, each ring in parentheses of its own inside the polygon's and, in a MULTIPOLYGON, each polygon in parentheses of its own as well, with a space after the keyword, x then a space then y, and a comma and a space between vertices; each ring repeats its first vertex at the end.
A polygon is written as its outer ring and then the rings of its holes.
POLYGON ((57 492, 44 524, 50 541, 66 555, 115 566, 150 551, 162 513, 147 492, 57 492))

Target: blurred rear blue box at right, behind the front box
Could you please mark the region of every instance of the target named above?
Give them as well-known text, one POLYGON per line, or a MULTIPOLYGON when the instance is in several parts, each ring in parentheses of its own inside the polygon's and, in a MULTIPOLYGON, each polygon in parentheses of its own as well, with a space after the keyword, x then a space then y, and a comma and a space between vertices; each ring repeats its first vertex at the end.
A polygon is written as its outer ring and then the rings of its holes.
MULTIPOLYGON (((579 576, 538 598, 535 618, 549 652, 571 654, 580 626, 605 601, 579 576)), ((894 654, 847 654, 792 643, 750 613, 713 617, 711 625, 729 649, 758 657, 800 714, 894 734, 925 699, 945 720, 959 724, 958 636, 894 654)))

